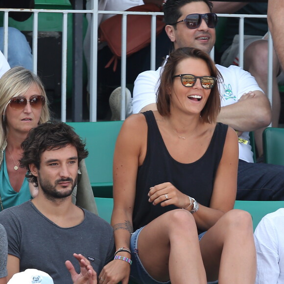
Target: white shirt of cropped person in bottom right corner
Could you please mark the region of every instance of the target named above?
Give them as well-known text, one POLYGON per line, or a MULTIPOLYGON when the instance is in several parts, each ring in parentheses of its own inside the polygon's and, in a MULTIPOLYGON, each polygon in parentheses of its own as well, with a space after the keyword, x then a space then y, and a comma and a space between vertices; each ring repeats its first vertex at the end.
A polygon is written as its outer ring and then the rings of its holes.
POLYGON ((284 283, 284 208, 265 215, 255 230, 256 284, 284 283))

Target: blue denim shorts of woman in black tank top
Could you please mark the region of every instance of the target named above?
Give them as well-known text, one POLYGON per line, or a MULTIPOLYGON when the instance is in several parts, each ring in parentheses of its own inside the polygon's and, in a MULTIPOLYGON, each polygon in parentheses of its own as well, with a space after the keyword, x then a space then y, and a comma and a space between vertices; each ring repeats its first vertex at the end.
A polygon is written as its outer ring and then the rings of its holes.
MULTIPOLYGON (((138 230, 136 230, 132 235, 131 235, 131 239, 130 239, 130 250, 131 250, 131 260, 132 260, 132 264, 131 264, 131 271, 130 271, 130 279, 132 281, 135 281, 137 284, 165 284, 165 283, 170 283, 170 281, 168 282, 159 282, 156 281, 155 279, 153 279, 148 272, 145 270, 145 268, 142 265, 142 262, 139 258, 139 254, 138 254, 138 248, 137 248, 137 244, 138 244, 138 237, 139 234, 141 232, 141 230, 143 229, 140 228, 138 230)), ((198 235, 199 240, 204 236, 206 232, 203 232, 201 234, 198 235)))

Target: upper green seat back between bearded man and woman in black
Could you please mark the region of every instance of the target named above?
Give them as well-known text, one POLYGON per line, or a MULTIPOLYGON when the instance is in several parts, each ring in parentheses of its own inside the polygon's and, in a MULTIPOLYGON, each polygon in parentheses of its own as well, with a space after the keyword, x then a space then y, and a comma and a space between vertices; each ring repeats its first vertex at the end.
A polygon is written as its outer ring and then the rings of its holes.
POLYGON ((123 121, 68 122, 86 139, 86 167, 95 197, 113 196, 113 155, 123 121))

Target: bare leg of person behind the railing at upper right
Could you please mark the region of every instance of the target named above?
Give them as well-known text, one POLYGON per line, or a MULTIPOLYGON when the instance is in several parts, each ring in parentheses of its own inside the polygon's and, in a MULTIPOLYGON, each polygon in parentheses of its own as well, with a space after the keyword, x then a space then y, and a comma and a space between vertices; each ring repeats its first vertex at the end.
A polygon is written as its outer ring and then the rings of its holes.
MULTIPOLYGON (((244 69, 249 71, 257 80, 260 88, 267 95, 268 74, 268 42, 266 40, 255 41, 250 44, 244 53, 244 69)), ((272 126, 278 127, 281 100, 277 83, 277 75, 280 64, 273 49, 273 74, 272 74, 272 126)), ((262 155, 262 132, 264 128, 255 131, 255 141, 259 156, 262 155)))

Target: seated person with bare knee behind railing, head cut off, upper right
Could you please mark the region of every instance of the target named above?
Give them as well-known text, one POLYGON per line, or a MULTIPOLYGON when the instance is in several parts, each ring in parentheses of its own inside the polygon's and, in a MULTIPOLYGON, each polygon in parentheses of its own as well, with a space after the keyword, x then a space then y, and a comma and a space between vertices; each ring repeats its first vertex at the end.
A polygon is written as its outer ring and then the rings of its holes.
MULTIPOLYGON (((267 2, 214 2, 215 13, 234 13, 248 15, 266 15, 267 2)), ((239 18, 222 18, 226 29, 222 35, 222 45, 218 48, 221 55, 220 64, 229 67, 239 65, 239 18)), ((223 24, 222 23, 222 24, 223 24)), ((264 94, 268 95, 268 25, 266 18, 244 18, 244 43, 243 43, 243 69, 250 72, 258 82, 264 94)), ((281 38, 281 37, 280 37, 281 38)), ((284 84, 284 73, 280 68, 279 60, 274 48, 272 53, 272 127, 278 127, 281 110, 281 99, 278 84, 284 84)), ((258 129, 254 132, 258 159, 262 157, 262 132, 258 129)))

